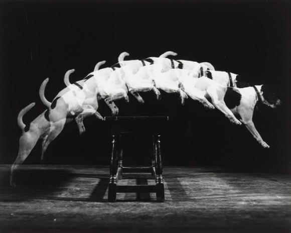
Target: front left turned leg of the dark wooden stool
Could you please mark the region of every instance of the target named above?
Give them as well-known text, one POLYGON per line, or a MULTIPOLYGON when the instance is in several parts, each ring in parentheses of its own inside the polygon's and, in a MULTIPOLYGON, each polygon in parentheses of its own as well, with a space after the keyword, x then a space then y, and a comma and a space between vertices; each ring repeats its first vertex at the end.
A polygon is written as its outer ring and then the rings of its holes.
POLYGON ((116 185, 117 185, 117 142, 116 135, 112 135, 112 151, 110 160, 110 178, 108 185, 108 201, 114 202, 116 200, 116 185))

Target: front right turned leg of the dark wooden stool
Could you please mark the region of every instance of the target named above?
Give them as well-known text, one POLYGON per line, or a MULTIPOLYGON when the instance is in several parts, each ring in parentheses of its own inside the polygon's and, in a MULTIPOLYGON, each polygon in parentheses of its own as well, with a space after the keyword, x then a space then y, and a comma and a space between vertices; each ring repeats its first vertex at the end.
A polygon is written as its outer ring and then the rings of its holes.
POLYGON ((162 166, 162 157, 161 157, 161 136, 155 136, 156 142, 156 194, 157 201, 164 202, 165 200, 165 191, 164 191, 164 179, 163 179, 163 166, 162 166))

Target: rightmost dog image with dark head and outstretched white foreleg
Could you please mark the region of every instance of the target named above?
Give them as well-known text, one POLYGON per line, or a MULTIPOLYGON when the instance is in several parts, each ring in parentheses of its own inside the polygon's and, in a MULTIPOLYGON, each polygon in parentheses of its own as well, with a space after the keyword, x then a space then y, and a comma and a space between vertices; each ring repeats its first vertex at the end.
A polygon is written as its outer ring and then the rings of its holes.
POLYGON ((267 85, 254 85, 244 88, 228 88, 224 97, 226 105, 231 111, 239 115, 241 122, 252 134, 255 140, 263 147, 269 145, 263 141, 252 121, 255 105, 265 104, 271 108, 276 108, 281 101, 267 85))

